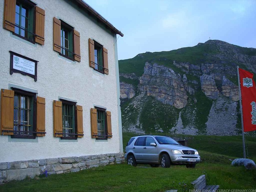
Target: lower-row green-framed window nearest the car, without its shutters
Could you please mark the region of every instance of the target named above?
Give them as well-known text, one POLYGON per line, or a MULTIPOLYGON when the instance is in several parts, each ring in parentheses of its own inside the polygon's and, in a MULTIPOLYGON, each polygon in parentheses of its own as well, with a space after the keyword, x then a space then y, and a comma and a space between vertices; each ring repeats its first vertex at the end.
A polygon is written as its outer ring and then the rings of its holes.
POLYGON ((98 138, 106 139, 106 110, 101 108, 97 109, 97 127, 98 138))

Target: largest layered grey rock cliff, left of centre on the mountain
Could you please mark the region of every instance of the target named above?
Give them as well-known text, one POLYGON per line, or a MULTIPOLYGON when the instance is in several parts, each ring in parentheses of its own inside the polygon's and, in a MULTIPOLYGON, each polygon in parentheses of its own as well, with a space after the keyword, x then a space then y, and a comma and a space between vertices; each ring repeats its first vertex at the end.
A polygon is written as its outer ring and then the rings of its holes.
POLYGON ((181 109, 187 105, 185 86, 188 87, 187 82, 173 69, 146 62, 138 87, 141 93, 181 109))

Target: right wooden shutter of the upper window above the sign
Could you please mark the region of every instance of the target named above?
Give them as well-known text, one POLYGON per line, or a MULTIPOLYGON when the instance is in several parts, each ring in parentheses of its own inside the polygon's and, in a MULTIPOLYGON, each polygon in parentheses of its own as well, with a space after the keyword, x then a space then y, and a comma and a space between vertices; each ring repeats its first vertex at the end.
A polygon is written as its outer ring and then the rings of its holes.
POLYGON ((44 45, 45 10, 36 7, 36 39, 35 41, 44 45))

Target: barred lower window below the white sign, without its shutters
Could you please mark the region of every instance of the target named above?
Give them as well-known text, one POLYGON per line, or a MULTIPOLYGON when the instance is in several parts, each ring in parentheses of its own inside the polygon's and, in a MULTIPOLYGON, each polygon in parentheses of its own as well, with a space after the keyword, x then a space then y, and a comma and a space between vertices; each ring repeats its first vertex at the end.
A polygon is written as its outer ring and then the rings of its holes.
POLYGON ((14 135, 12 137, 31 138, 35 128, 35 93, 14 89, 14 135))

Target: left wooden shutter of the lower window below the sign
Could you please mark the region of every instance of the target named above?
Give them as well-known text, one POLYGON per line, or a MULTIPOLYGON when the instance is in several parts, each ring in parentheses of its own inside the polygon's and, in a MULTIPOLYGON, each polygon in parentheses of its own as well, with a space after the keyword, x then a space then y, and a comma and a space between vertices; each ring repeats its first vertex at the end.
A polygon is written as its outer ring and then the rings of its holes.
POLYGON ((1 89, 1 127, 0 133, 13 135, 13 132, 2 132, 4 130, 13 131, 14 123, 14 91, 1 89))

